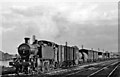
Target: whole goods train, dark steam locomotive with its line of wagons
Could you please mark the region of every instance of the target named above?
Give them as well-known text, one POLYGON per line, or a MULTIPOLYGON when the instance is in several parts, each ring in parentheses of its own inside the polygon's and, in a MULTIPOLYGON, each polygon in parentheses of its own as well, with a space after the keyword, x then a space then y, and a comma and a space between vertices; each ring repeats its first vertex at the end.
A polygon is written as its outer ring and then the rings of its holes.
POLYGON ((92 49, 79 49, 77 46, 58 45, 46 40, 36 40, 30 44, 30 38, 18 46, 19 57, 9 65, 15 67, 16 73, 44 73, 57 68, 71 67, 84 62, 101 61, 114 58, 109 52, 92 49))

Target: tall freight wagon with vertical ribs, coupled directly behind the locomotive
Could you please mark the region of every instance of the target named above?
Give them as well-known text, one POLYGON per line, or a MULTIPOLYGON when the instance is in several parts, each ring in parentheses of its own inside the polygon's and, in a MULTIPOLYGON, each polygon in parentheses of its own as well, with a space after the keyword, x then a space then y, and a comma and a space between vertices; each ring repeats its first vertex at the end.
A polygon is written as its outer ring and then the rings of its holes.
POLYGON ((79 49, 76 46, 64 46, 59 45, 58 47, 58 63, 60 67, 68 67, 75 65, 75 60, 77 59, 76 53, 79 49))

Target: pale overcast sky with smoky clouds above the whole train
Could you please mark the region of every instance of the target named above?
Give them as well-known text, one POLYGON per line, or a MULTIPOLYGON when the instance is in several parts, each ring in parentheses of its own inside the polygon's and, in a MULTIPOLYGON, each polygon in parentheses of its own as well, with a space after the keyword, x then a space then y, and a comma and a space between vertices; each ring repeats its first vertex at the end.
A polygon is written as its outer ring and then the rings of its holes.
POLYGON ((24 37, 118 51, 117 0, 3 0, 0 50, 17 53, 24 37))

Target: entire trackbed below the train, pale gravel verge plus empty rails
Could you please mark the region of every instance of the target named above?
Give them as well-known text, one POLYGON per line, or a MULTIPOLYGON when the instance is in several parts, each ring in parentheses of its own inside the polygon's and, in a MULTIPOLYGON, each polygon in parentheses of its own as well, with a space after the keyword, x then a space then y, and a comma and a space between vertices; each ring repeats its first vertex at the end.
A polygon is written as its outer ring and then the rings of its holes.
MULTIPOLYGON (((116 77, 113 73, 119 66, 117 60, 105 61, 100 63, 92 63, 88 65, 78 66, 73 69, 68 69, 63 72, 44 74, 44 75, 34 75, 34 77, 116 77), (109 70, 109 72, 108 72, 109 70), (102 71, 102 72, 101 72, 102 71), (104 74, 106 72, 106 75, 104 74)), ((15 75, 2 76, 2 77, 18 77, 15 75)), ((19 77, 33 77, 33 75, 20 75, 19 77)))

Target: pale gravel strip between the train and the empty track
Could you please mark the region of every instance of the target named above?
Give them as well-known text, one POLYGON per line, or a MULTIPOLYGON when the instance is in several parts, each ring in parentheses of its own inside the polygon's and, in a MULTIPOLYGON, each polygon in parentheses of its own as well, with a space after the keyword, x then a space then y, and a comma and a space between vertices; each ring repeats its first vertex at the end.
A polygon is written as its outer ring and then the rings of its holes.
MULTIPOLYGON (((98 62, 98 63, 91 63, 91 64, 85 64, 85 65, 81 65, 81 66, 75 66, 75 67, 72 67, 72 68, 69 68, 69 69, 56 69, 54 71, 50 71, 49 73, 46 73, 46 74, 37 74, 37 75, 3 75, 2 77, 65 77, 67 76, 67 74, 71 74, 71 73, 74 73, 74 72, 77 72, 77 71, 80 71, 82 70, 83 71, 83 68, 86 68, 89 70, 97 70, 96 68, 99 66, 99 64, 101 64, 101 67, 104 66, 105 62, 111 62, 111 61, 103 61, 103 62, 98 62), (94 66, 94 68, 93 68, 94 66)), ((107 64, 107 63, 106 63, 107 64)), ((4 68, 5 69, 5 68, 4 68)), ((8 70, 10 70, 10 68, 6 68, 8 70)), ((88 71, 88 70, 86 70, 88 71)), ((12 71, 11 71, 12 72, 12 71)), ((14 72, 14 70, 13 70, 14 72)), ((84 74, 86 74, 87 72, 84 72, 84 74)), ((74 74, 76 75, 76 74, 74 74)), ((73 77, 75 77, 73 75, 73 77)), ((76 75, 76 76, 79 76, 79 75, 76 75)), ((114 77, 114 76, 113 76, 114 77)))

